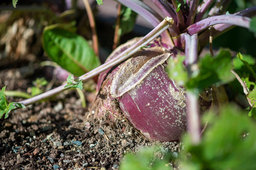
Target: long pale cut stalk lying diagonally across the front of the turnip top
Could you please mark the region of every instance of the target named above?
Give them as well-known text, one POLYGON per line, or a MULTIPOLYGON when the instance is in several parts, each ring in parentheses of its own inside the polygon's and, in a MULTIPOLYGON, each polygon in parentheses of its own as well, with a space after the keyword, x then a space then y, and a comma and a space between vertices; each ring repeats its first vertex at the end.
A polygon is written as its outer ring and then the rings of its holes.
MULTIPOLYGON (((108 62, 104 63, 103 65, 84 74, 83 76, 80 76, 78 79, 81 79, 82 82, 85 82, 86 80, 100 74, 104 70, 106 70, 108 68, 112 68, 114 65, 120 63, 124 59, 127 59, 128 57, 133 55, 135 52, 139 51, 141 47, 146 46, 149 42, 151 42, 152 40, 157 38, 161 33, 163 33, 166 29, 168 29, 168 27, 171 26, 172 24, 173 24, 173 20, 169 17, 165 17, 165 19, 158 26, 156 26, 149 34, 144 36, 140 41, 136 42, 133 46, 131 46, 127 50, 120 53, 114 59, 111 59, 108 62)), ((51 96, 54 96, 57 93, 60 93, 60 92, 63 92, 65 90, 69 89, 69 88, 65 88, 65 85, 66 84, 58 86, 55 89, 52 89, 46 93, 39 94, 39 95, 29 98, 27 100, 21 101, 20 103, 24 104, 25 106, 28 106, 35 102, 42 101, 51 96)))

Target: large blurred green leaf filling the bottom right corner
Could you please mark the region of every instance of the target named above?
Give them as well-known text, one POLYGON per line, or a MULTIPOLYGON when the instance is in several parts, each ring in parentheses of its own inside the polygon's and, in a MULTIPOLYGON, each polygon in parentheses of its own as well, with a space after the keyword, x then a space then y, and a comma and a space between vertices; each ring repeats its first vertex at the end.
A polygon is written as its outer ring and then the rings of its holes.
POLYGON ((200 144, 193 145, 190 136, 184 136, 181 170, 188 166, 195 170, 255 170, 255 121, 234 105, 216 111, 205 114, 208 126, 200 144))

